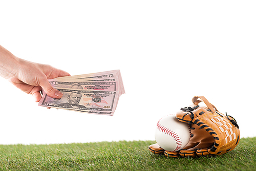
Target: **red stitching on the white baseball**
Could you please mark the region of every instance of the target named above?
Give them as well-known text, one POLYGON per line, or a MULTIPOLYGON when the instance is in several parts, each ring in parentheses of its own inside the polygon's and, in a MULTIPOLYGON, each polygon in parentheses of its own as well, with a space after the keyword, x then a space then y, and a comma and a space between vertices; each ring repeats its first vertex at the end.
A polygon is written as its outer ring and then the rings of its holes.
MULTIPOLYGON (((161 119, 160 119, 160 120, 161 120, 161 119)), ((173 137, 173 138, 175 139, 175 141, 176 141, 176 148, 174 149, 174 151, 169 151, 169 152, 177 152, 177 151, 179 151, 180 148, 181 148, 181 145, 182 145, 181 140, 180 140, 180 137, 179 137, 176 133, 174 133, 172 130, 168 129, 167 127, 164 127, 164 126, 161 125, 161 124, 159 124, 160 120, 157 122, 157 128, 158 128, 161 132, 163 132, 163 133, 165 133, 165 134, 167 134, 167 135, 173 137)), ((191 137, 190 126, 189 126, 188 123, 187 123, 187 125, 188 125, 188 130, 189 130, 189 136, 191 137)))

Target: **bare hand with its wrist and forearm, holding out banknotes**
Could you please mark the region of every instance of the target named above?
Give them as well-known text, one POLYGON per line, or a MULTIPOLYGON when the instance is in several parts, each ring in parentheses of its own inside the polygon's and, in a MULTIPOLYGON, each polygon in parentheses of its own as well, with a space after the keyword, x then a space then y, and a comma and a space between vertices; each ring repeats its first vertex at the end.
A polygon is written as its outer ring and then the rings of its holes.
POLYGON ((9 80, 18 89, 32 94, 36 102, 40 101, 42 90, 50 97, 62 97, 63 94, 54 89, 48 79, 69 75, 50 65, 17 58, 0 46, 0 76, 9 80))

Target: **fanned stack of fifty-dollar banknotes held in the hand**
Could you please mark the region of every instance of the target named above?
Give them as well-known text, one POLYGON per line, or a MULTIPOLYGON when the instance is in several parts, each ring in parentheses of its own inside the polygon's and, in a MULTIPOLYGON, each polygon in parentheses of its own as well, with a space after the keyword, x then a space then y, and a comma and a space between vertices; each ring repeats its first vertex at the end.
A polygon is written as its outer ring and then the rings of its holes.
POLYGON ((63 96, 52 98, 43 91, 39 106, 113 115, 119 97, 125 93, 120 70, 58 77, 49 82, 63 96))

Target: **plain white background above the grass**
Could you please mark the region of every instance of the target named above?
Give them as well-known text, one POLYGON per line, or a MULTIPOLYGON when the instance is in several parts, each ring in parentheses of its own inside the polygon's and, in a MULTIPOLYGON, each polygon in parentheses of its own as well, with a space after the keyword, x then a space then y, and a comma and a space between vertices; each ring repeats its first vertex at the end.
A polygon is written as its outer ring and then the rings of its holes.
POLYGON ((255 1, 1 1, 0 45, 71 75, 120 69, 114 116, 37 106, 0 78, 0 144, 154 140, 203 95, 255 136, 255 1))

